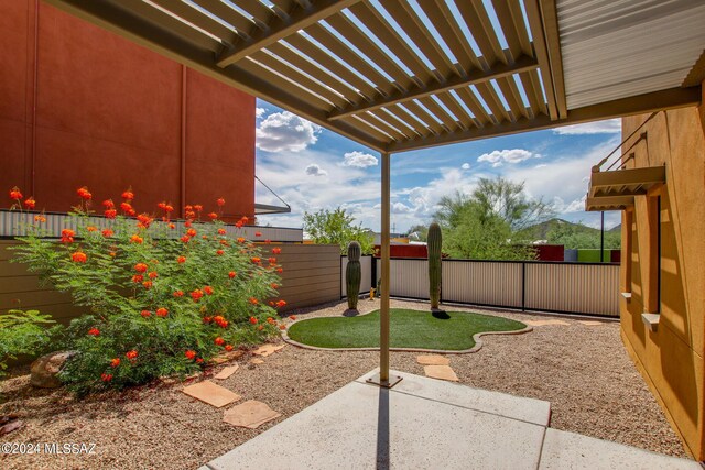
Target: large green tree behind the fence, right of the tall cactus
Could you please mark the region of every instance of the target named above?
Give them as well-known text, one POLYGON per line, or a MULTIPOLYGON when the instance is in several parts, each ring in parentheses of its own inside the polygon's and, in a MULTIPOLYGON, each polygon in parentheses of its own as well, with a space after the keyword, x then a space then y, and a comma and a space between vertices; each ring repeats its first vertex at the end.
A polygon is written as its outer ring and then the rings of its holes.
POLYGON ((443 248, 454 258, 531 260, 535 250, 514 240, 523 228, 552 216, 542 200, 531 200, 523 183, 481 178, 470 195, 443 197, 435 219, 444 228, 443 248))

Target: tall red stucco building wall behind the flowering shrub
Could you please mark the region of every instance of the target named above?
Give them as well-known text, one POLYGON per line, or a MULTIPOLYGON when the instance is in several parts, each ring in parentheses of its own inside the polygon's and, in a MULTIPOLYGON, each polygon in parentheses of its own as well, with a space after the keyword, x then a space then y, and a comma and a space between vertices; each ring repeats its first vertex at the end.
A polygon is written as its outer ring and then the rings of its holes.
POLYGON ((0 189, 65 211, 87 185, 139 211, 252 216, 254 98, 37 0, 0 2, 0 189))

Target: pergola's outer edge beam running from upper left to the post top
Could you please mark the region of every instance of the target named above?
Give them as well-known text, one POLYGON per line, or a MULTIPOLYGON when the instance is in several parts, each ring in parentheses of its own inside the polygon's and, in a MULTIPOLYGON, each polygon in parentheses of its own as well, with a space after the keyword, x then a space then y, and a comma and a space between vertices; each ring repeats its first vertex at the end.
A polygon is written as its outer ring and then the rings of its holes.
POLYGON ((127 37, 204 75, 262 98, 274 106, 295 112, 302 118, 338 132, 361 145, 381 152, 387 144, 347 122, 329 122, 327 120, 327 111, 322 111, 307 102, 305 98, 297 96, 296 87, 294 86, 291 89, 276 87, 237 65, 228 68, 218 67, 213 59, 213 51, 203 48, 189 42, 188 39, 172 33, 150 20, 134 14, 124 7, 123 0, 45 0, 45 2, 89 23, 127 37))

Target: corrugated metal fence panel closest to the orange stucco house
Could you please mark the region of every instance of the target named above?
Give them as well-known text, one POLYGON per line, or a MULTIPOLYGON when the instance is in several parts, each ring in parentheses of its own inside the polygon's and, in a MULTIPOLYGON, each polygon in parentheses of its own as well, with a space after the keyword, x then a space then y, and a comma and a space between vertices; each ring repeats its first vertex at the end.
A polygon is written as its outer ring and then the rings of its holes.
POLYGON ((527 309, 619 316, 619 266, 527 263, 527 309))

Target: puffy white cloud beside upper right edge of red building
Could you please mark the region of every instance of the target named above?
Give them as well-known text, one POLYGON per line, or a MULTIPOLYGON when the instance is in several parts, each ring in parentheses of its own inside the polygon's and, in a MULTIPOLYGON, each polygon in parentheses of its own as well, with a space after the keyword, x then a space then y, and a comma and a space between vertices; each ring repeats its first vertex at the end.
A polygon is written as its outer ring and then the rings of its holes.
POLYGON ((274 112, 257 128, 257 147, 267 152, 301 152, 316 143, 321 129, 289 111, 274 112))

